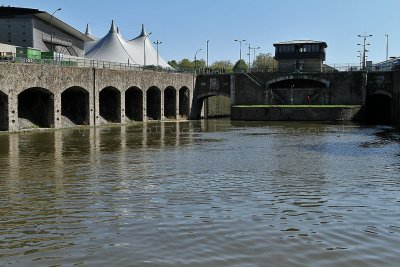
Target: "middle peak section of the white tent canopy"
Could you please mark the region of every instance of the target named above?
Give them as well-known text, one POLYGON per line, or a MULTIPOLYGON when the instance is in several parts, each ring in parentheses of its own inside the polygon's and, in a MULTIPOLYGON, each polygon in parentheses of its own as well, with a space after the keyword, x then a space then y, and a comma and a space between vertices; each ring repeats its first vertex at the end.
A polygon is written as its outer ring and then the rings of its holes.
POLYGON ((110 31, 106 36, 90 42, 85 45, 86 48, 88 48, 85 55, 87 58, 138 64, 136 61, 136 58, 138 58, 137 52, 117 33, 114 21, 112 21, 110 31))

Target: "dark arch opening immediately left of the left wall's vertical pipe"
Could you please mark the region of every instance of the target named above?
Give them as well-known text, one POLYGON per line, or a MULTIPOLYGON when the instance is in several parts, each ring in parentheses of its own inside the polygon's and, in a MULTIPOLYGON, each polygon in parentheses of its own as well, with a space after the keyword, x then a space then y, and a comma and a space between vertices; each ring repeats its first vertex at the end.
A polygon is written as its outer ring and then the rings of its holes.
POLYGON ((81 87, 71 87, 61 94, 62 122, 75 125, 89 124, 89 92, 81 87))

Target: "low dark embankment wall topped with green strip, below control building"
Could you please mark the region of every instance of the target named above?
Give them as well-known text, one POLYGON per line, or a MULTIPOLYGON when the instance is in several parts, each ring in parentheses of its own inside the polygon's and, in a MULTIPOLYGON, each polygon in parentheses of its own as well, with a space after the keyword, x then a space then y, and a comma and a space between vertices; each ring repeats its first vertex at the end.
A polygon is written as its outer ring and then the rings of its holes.
POLYGON ((358 121, 363 110, 354 106, 232 106, 232 120, 245 121, 358 121))

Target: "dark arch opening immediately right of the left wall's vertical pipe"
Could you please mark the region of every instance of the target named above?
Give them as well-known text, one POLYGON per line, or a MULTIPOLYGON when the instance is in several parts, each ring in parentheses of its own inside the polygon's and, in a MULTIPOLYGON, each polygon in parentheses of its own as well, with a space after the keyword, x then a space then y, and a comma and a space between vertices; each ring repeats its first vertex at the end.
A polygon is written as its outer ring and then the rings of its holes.
POLYGON ((100 91, 100 116, 107 122, 121 122, 121 93, 114 87, 100 91))

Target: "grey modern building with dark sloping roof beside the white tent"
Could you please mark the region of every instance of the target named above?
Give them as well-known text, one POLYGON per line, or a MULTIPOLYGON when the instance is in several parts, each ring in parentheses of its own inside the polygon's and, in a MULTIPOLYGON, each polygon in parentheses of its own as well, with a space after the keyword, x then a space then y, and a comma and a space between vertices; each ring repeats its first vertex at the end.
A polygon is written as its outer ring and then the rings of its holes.
POLYGON ((84 57, 87 41, 92 39, 45 11, 0 7, 0 43, 84 57))

